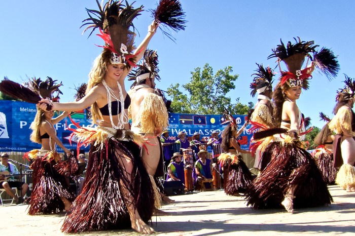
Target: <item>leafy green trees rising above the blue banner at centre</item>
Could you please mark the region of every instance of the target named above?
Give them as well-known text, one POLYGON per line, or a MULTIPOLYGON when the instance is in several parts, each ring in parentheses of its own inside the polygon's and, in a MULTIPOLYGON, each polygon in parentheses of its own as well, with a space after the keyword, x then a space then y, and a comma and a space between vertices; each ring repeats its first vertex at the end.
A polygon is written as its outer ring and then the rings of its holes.
POLYGON ((182 85, 187 92, 184 94, 180 84, 170 85, 167 94, 171 97, 171 108, 176 113, 222 114, 227 108, 234 114, 246 114, 254 107, 252 102, 242 104, 239 98, 232 104, 226 94, 235 89, 234 82, 238 74, 231 66, 220 69, 214 74, 211 66, 206 63, 203 68, 197 67, 191 72, 190 82, 182 85))

